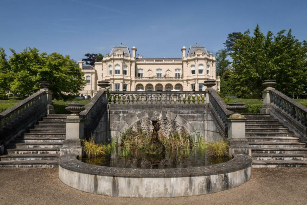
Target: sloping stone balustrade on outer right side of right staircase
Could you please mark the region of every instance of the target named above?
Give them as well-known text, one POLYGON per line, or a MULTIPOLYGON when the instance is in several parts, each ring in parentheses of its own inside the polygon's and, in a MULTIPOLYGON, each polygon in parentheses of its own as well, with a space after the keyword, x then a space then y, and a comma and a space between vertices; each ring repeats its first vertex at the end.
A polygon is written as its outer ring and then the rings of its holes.
POLYGON ((273 97, 271 103, 296 119, 298 123, 307 126, 307 108, 305 106, 292 100, 278 90, 272 89, 270 93, 273 97))

